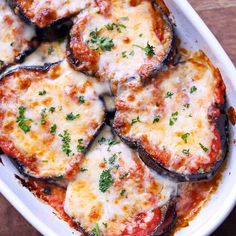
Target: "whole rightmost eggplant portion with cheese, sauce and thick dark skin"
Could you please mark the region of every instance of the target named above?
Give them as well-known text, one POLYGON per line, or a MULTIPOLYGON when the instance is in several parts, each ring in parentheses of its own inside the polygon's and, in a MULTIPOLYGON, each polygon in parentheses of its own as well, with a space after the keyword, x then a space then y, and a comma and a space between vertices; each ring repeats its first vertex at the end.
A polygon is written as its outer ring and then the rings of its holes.
POLYGON ((127 84, 116 99, 113 126, 162 175, 210 179, 227 151, 224 104, 220 72, 198 51, 145 87, 127 84))

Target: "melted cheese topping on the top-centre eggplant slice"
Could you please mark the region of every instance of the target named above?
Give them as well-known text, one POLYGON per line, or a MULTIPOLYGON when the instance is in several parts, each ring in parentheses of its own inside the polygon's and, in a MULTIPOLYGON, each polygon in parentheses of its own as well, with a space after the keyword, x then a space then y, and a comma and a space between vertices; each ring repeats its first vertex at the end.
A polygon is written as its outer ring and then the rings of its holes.
MULTIPOLYGON (((114 47, 111 51, 99 52, 97 73, 104 79, 116 80, 131 76, 139 76, 142 65, 148 65, 154 69, 170 48, 171 30, 165 29, 165 43, 157 37, 154 25, 155 17, 158 17, 150 1, 141 1, 137 6, 131 6, 126 0, 111 1, 111 14, 104 16, 94 11, 78 16, 77 23, 86 19, 85 27, 81 27, 80 37, 83 42, 88 42, 90 33, 95 29, 100 30, 101 36, 112 39, 114 47), (117 24, 113 30, 108 30, 108 24, 117 24), (147 42, 154 46, 155 55, 148 57, 142 48, 147 42)), ((163 21, 163 20, 162 20, 163 21)), ((76 23, 76 24, 77 24, 76 23)), ((77 30, 77 26, 74 26, 77 30)), ((166 24, 166 23, 164 23, 166 24)), ((89 43, 89 47, 94 46, 89 43)))

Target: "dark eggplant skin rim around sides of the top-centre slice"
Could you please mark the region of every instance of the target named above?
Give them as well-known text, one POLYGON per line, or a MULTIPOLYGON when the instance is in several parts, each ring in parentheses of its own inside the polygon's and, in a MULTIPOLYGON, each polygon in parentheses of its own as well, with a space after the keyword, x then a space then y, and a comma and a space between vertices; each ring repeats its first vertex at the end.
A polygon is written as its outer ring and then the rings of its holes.
MULTIPOLYGON (((142 75, 142 74, 140 75, 141 79, 144 82, 147 79, 153 78, 158 72, 165 70, 167 68, 168 64, 174 60, 175 55, 176 55, 176 50, 177 50, 174 24, 171 22, 171 19, 169 18, 169 16, 162 10, 162 8, 155 1, 153 1, 152 5, 153 5, 154 9, 161 12, 162 17, 163 17, 164 21, 166 22, 167 26, 170 28, 172 35, 171 35, 171 43, 170 43, 169 50, 167 51, 167 53, 165 54, 163 59, 160 61, 160 63, 150 72, 148 78, 145 75, 142 75)), ((67 43, 67 47, 66 47, 67 60, 75 70, 78 70, 78 67, 81 65, 82 61, 79 58, 74 57, 73 51, 70 47, 70 41, 71 41, 71 36, 69 34, 68 35, 68 43, 67 43)), ((87 74, 90 76, 91 75, 96 76, 96 74, 90 73, 87 70, 82 70, 82 72, 84 74, 87 74)), ((131 77, 131 78, 133 78, 133 77, 131 77)), ((129 80, 129 78, 127 78, 127 80, 129 80)))

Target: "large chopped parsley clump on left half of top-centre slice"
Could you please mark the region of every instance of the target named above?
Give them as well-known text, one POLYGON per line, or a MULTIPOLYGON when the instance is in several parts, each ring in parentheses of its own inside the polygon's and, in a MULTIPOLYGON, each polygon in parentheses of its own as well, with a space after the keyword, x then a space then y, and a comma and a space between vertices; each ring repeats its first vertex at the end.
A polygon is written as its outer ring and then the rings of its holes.
POLYGON ((89 42, 96 47, 95 50, 111 51, 114 47, 113 39, 99 35, 99 30, 97 28, 90 32, 89 37, 89 42))

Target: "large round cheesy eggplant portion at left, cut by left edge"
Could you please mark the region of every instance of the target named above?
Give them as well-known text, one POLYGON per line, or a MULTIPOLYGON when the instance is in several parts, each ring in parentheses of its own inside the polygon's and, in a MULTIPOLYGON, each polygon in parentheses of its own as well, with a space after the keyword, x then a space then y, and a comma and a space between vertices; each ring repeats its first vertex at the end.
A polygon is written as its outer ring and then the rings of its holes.
POLYGON ((66 61, 0 81, 0 147, 35 178, 70 179, 104 121, 93 80, 66 61))

